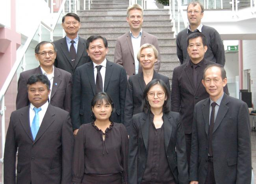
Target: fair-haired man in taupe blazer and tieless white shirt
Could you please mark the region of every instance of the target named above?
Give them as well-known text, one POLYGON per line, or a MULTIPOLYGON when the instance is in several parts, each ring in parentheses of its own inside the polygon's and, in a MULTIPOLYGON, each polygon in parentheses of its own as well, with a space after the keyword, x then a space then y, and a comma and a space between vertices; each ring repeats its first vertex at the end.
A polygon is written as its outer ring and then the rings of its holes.
POLYGON ((158 40, 155 36, 150 35, 141 29, 143 23, 142 7, 138 4, 129 6, 127 9, 126 20, 130 26, 130 31, 117 39, 114 62, 124 67, 128 77, 142 72, 136 56, 139 48, 143 44, 148 43, 154 45, 158 50, 158 60, 154 67, 156 72, 158 72, 161 61, 158 40))

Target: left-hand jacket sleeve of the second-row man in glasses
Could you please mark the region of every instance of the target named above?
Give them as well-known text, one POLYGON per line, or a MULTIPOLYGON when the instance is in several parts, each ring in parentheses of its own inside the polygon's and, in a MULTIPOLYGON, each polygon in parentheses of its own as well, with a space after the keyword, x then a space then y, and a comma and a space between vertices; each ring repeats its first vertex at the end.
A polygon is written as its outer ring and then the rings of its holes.
POLYGON ((24 75, 21 73, 18 80, 18 92, 16 98, 16 109, 28 106, 28 90, 27 90, 27 81, 24 75))

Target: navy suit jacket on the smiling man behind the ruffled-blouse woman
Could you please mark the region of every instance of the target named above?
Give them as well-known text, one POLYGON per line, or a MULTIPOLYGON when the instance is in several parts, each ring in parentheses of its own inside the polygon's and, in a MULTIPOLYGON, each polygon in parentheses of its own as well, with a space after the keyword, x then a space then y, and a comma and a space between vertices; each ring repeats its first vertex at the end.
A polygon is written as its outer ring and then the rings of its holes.
MULTIPOLYGON (((126 72, 119 64, 107 60, 104 92, 108 93, 115 105, 111 118, 114 122, 123 122, 126 94, 126 72)), ((84 123, 90 123, 91 100, 96 94, 93 62, 85 63, 76 69, 72 89, 72 125, 78 129, 84 123)))

